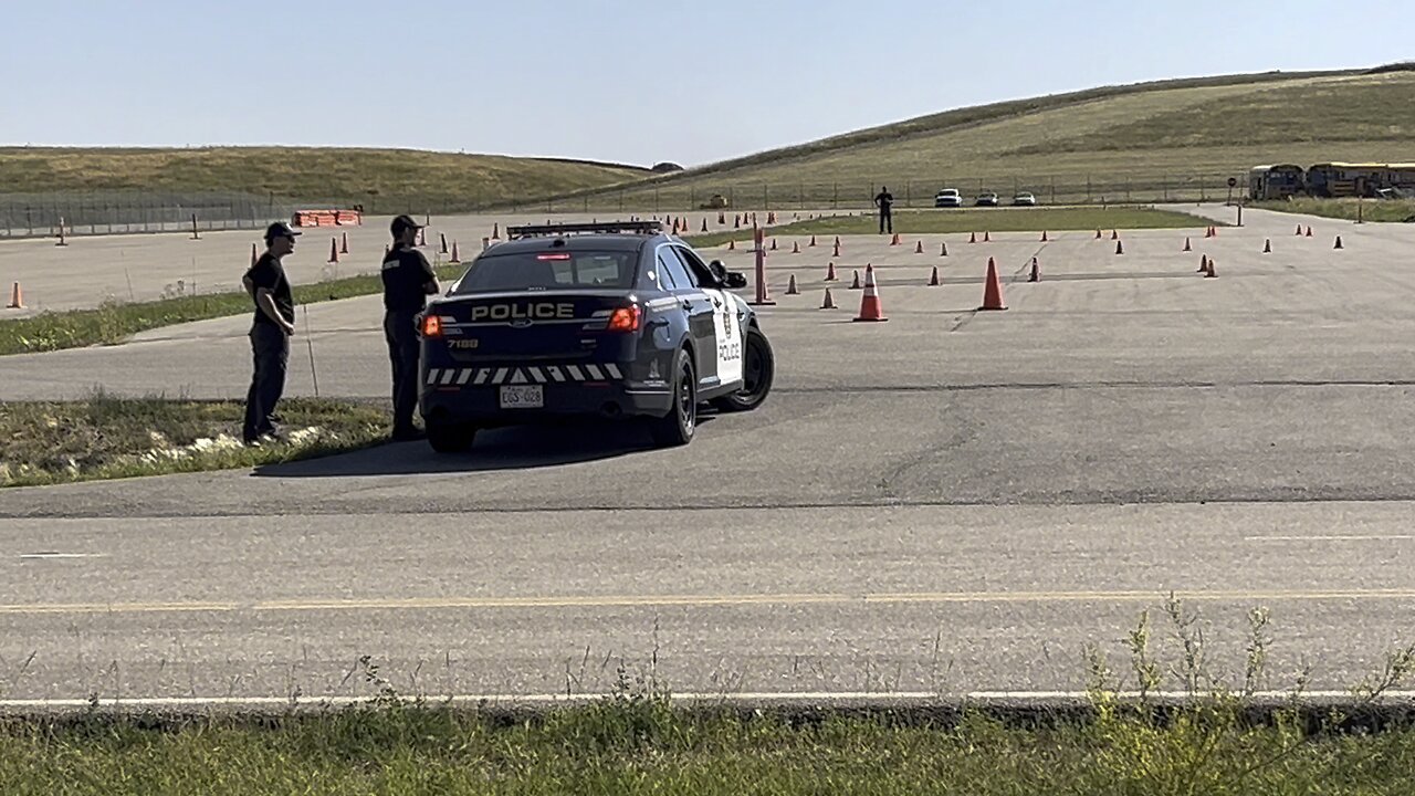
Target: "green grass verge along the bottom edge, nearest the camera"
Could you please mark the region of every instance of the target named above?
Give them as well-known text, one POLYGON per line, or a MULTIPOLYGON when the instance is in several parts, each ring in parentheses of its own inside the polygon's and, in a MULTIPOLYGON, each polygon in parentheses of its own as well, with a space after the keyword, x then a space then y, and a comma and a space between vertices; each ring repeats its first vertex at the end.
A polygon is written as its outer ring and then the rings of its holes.
POLYGON ((518 722, 433 707, 308 717, 0 724, 0 790, 103 793, 1020 793, 1326 796, 1415 792, 1415 729, 1255 725, 1203 707, 1156 721, 1019 725, 790 721, 606 698, 518 722))

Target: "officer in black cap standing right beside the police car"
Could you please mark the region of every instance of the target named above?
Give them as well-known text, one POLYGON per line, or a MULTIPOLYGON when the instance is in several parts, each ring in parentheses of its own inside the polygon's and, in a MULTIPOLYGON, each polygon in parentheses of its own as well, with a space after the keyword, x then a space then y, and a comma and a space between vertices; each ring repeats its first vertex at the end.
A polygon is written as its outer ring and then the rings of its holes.
POLYGON ((417 327, 413 316, 427 306, 427 296, 437 292, 437 275, 416 248, 422 227, 408 215, 393 220, 393 245, 383 256, 383 339, 393 365, 393 439, 420 439, 413 426, 417 408, 417 327))

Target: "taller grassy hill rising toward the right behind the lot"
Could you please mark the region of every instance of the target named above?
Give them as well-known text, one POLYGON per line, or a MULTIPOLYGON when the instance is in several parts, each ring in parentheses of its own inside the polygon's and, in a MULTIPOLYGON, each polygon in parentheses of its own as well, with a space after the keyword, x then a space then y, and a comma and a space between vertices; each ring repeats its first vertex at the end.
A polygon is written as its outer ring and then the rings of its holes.
MULTIPOLYGON (((1043 201, 1223 198, 1230 176, 1292 161, 1412 160, 1415 67, 1228 75, 964 108, 567 200, 665 210, 914 207, 945 186, 1043 201)), ((569 205, 570 203, 566 201, 569 205)))

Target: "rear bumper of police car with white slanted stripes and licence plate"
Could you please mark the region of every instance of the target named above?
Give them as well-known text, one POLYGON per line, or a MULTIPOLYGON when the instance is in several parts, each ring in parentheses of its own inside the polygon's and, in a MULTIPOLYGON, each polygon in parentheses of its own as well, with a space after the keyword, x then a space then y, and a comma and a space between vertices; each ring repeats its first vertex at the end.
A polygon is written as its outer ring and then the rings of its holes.
POLYGON ((423 419, 436 422, 466 422, 477 425, 532 423, 539 419, 565 416, 599 416, 606 419, 634 416, 664 416, 672 409, 672 392, 666 384, 634 384, 608 378, 623 375, 617 367, 600 365, 593 378, 586 368, 577 368, 583 380, 572 380, 569 373, 559 373, 563 380, 552 378, 542 370, 541 378, 494 377, 481 378, 464 375, 463 368, 446 371, 427 368, 423 371, 423 387, 419 395, 419 411, 423 419), (497 384, 499 381, 499 384, 497 384), (444 384, 446 382, 446 384, 444 384))

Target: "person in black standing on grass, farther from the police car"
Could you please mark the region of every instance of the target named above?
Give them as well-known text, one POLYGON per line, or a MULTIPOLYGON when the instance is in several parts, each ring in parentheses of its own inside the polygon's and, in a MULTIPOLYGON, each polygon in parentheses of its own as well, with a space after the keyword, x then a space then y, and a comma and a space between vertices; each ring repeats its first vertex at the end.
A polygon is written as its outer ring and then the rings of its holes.
POLYGON ((242 283, 256 303, 250 323, 250 350, 255 353, 255 374, 246 392, 246 419, 241 436, 246 445, 260 438, 279 438, 275 406, 284 394, 286 365, 290 361, 290 336, 294 334, 294 297, 280 259, 294 251, 300 232, 284 222, 266 229, 266 252, 246 271, 242 283))

